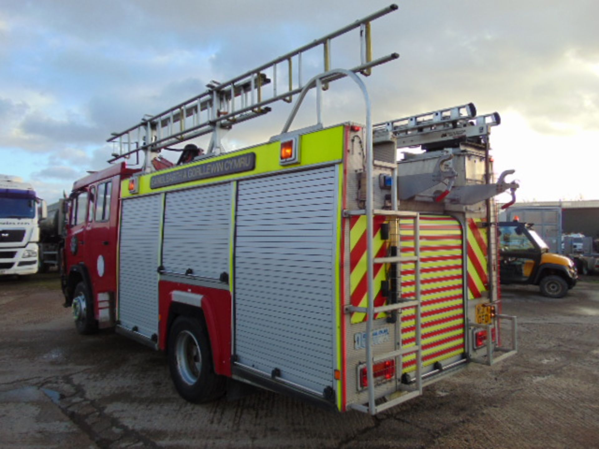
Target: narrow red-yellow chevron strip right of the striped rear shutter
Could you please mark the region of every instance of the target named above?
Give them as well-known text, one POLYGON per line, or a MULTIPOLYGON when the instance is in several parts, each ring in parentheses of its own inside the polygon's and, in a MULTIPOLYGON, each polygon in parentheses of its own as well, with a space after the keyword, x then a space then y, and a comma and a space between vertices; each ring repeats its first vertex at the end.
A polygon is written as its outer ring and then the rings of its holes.
POLYGON ((488 290, 487 229, 481 219, 468 219, 468 299, 477 299, 488 290))

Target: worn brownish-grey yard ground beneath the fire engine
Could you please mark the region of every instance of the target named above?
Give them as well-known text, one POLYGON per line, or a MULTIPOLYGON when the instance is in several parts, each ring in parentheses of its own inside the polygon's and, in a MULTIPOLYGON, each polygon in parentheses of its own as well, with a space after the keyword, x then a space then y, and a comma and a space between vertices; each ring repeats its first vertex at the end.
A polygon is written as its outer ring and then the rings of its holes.
POLYGON ((539 447, 599 445, 599 277, 562 299, 504 287, 519 353, 471 364, 377 417, 269 392, 191 405, 166 357, 80 336, 56 275, 0 279, 0 447, 539 447))

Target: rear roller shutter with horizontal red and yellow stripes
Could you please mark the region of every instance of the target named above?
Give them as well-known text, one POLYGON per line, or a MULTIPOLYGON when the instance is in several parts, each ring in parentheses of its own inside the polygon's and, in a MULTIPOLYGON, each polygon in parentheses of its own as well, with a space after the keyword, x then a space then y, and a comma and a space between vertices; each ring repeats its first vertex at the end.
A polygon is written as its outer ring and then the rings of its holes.
MULTIPOLYGON (((414 255, 414 223, 400 221, 403 256, 414 255)), ((449 359, 464 352, 464 257, 462 227, 449 216, 420 216, 420 320, 422 364, 449 359)), ((401 296, 416 295, 415 263, 401 264, 401 296)), ((415 345, 415 308, 401 315, 404 347, 415 345)), ((403 371, 416 369, 416 354, 403 357, 403 371)))

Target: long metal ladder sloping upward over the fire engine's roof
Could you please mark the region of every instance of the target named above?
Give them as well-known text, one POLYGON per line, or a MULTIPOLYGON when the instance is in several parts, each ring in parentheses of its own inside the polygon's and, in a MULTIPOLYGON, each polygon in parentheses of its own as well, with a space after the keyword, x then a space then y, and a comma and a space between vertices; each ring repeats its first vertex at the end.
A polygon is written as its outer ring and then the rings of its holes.
MULTIPOLYGON (((392 4, 376 13, 356 20, 343 28, 329 33, 313 42, 303 45, 289 53, 283 54, 270 62, 262 64, 250 71, 224 83, 212 81, 208 89, 187 101, 181 102, 160 114, 141 120, 137 125, 122 132, 113 133, 108 142, 117 145, 118 151, 113 154, 114 162, 122 157, 128 157, 137 151, 146 152, 145 166, 149 166, 147 152, 158 152, 169 145, 212 133, 208 153, 222 152, 220 140, 224 133, 235 123, 244 122, 270 111, 267 105, 277 101, 291 102, 294 95, 304 90, 302 82, 302 54, 312 48, 322 45, 323 69, 331 70, 331 43, 353 29, 359 28, 360 60, 351 72, 370 75, 374 66, 397 59, 397 53, 379 59, 372 58, 371 21, 397 10, 392 4), (294 80, 294 61, 297 64, 297 78, 294 80), (280 66, 283 65, 286 74, 282 80, 277 80, 280 66), (267 74, 271 74, 272 79, 267 74), (279 82, 281 81, 281 82, 279 82), (265 92, 265 86, 271 86, 270 96, 265 92), (280 84, 285 89, 280 92, 280 84)), ((328 77, 320 79, 322 90, 328 89, 328 83, 343 78, 339 72, 331 72, 328 77)), ((316 86, 314 86, 316 87, 316 86)))

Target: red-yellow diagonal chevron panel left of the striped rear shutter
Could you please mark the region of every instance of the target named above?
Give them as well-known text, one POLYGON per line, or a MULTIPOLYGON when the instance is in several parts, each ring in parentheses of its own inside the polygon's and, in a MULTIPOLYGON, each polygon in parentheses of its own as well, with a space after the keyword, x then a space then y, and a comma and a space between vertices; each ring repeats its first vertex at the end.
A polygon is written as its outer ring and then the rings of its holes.
MULTIPOLYGON (((373 252, 374 257, 386 255, 387 244, 380 236, 380 226, 385 222, 385 217, 374 217, 373 226, 373 252)), ((366 217, 355 216, 350 219, 350 301, 357 307, 368 307, 368 281, 366 257, 366 217)), ((374 264, 374 305, 378 307, 385 304, 385 298, 380 294, 380 283, 385 280, 385 264, 374 264)), ((382 318, 385 314, 377 314, 374 318, 382 318)), ((352 314, 352 323, 361 323, 366 319, 365 313, 352 314)))

